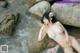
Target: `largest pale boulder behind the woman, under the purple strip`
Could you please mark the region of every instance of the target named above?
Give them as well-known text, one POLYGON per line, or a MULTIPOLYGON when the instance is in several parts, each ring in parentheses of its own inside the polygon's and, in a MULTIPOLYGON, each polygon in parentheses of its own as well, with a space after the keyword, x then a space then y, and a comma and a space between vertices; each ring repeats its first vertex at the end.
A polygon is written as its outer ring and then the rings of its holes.
POLYGON ((80 27, 80 4, 55 3, 51 9, 63 24, 80 27))

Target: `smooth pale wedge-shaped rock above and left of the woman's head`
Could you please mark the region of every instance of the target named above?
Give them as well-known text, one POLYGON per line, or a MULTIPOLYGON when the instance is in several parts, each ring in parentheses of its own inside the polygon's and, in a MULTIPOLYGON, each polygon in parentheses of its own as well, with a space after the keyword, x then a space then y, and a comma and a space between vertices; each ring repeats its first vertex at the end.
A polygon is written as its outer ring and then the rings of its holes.
POLYGON ((31 12, 32 14, 38 15, 40 17, 42 17, 42 15, 46 12, 50 10, 50 4, 47 1, 42 1, 37 3, 36 5, 32 6, 29 9, 29 12, 31 12))

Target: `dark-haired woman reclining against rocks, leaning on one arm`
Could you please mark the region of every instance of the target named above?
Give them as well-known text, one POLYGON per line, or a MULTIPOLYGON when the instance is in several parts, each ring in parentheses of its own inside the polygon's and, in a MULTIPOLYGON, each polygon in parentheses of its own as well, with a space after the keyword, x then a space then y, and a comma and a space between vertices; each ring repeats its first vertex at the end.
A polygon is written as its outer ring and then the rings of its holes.
POLYGON ((46 34, 48 34, 49 38, 56 41, 63 49, 64 53, 74 53, 73 48, 80 53, 80 46, 77 40, 69 36, 66 29, 60 22, 56 22, 55 16, 52 18, 52 13, 45 13, 42 18, 42 27, 39 32, 38 40, 41 41, 44 39, 46 34))

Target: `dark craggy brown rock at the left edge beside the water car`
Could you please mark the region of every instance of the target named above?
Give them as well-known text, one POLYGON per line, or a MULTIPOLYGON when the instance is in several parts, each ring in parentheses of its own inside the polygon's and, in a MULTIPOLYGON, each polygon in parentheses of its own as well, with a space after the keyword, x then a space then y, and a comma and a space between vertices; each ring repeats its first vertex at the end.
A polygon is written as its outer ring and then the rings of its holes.
POLYGON ((5 13, 4 15, 0 16, 0 34, 11 34, 13 28, 15 27, 18 16, 15 16, 11 13, 5 13))

